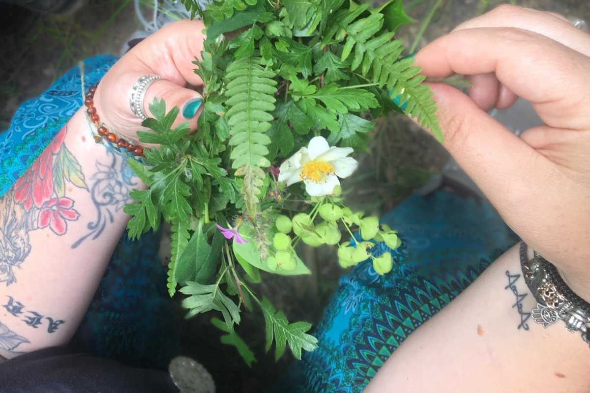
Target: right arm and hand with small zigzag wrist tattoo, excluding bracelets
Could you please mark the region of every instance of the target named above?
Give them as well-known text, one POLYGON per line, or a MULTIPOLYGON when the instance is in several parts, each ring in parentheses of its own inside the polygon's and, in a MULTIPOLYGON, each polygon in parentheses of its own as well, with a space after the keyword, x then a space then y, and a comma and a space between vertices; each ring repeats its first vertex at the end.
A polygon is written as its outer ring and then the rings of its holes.
MULTIPOLYGON (((445 147, 510 227, 590 300, 590 35, 562 16, 503 6, 415 59, 427 77, 472 75, 470 95, 432 85, 445 147), (517 97, 545 123, 520 136, 486 113, 517 97)), ((520 271, 514 247, 412 333, 367 391, 590 391, 590 348, 561 321, 533 322, 520 271)))

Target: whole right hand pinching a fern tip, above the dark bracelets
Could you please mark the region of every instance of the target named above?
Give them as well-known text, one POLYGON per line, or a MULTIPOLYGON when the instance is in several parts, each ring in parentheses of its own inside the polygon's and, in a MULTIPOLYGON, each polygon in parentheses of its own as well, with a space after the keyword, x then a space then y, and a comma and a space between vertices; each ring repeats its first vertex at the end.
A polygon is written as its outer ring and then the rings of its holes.
POLYGON ((590 300, 590 35, 562 16, 500 6, 418 52, 444 146, 512 229, 590 300), (545 125, 514 135, 486 113, 522 97, 545 125))

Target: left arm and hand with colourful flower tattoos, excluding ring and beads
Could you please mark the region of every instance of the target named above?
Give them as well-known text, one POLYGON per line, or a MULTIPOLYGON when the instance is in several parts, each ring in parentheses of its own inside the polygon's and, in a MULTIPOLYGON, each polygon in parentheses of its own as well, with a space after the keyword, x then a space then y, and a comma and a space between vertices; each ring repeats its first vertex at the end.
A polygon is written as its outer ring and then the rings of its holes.
MULTIPOLYGON (((180 21, 134 47, 104 76, 94 95, 101 121, 137 141, 141 120, 127 93, 143 75, 162 75, 146 92, 168 108, 200 97, 192 61, 202 49, 200 21, 180 21)), ((145 187, 124 158, 96 144, 85 107, 0 197, 0 355, 11 358, 66 344, 77 329, 129 217, 129 191, 145 187)), ((175 124, 197 113, 181 111, 175 124)))

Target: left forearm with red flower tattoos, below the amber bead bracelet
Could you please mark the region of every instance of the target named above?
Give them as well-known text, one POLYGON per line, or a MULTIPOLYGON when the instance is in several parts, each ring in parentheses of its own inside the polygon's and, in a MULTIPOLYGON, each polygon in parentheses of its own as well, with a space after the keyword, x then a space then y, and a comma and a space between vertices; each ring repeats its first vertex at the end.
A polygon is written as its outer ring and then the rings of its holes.
POLYGON ((96 144, 84 107, 0 197, 0 355, 66 344, 119 241, 123 157, 96 144))

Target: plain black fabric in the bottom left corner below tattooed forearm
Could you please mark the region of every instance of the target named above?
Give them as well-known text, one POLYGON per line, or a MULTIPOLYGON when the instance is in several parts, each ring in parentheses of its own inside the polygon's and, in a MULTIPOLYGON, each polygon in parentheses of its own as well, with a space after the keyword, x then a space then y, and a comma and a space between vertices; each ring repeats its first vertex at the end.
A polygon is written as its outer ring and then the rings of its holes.
POLYGON ((54 347, 0 363, 0 393, 178 393, 168 372, 54 347))

